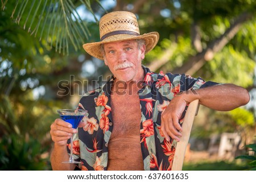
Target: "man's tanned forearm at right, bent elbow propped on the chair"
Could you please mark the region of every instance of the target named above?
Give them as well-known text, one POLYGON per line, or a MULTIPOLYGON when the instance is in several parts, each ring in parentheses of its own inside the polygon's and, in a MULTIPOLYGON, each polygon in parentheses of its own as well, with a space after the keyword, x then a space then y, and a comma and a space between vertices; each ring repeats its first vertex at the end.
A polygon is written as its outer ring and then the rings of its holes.
POLYGON ((199 99, 199 104, 219 111, 228 111, 246 105, 250 95, 246 89, 233 84, 209 86, 189 91, 186 100, 192 102, 199 99))

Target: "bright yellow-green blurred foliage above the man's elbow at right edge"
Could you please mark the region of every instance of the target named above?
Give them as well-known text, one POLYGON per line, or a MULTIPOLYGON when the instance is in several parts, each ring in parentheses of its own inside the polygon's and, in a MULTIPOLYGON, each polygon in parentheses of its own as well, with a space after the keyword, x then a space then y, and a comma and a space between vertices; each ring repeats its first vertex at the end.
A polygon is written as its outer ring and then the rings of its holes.
POLYGON ((243 87, 253 84, 255 61, 245 52, 234 50, 233 46, 222 49, 213 60, 205 63, 197 75, 222 83, 233 83, 243 87))

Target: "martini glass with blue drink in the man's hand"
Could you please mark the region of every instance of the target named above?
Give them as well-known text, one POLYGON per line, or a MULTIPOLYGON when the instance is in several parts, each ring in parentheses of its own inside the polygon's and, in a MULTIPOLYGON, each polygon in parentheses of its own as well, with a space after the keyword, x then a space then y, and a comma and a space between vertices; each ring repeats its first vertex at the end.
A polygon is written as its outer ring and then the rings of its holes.
MULTIPOLYGON (((65 122, 71 123, 73 129, 77 129, 79 123, 81 122, 87 111, 82 109, 59 109, 57 110, 57 112, 60 114, 61 119, 63 119, 65 122)), ((71 146, 69 160, 63 163, 81 163, 73 159, 73 136, 70 139, 70 144, 71 146)))

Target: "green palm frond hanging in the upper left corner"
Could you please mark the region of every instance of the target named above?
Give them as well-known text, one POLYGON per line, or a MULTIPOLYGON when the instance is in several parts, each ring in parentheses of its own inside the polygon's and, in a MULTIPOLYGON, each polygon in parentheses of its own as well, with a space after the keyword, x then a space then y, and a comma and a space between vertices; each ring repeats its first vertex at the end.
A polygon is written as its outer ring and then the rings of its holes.
MULTIPOLYGON (((49 44, 51 48, 55 48, 56 52, 63 52, 63 54, 68 54, 68 44, 71 44, 77 51, 91 36, 86 22, 77 13, 78 6, 85 6, 98 22, 89 0, 16 0, 16 2, 6 0, 1 2, 3 11, 9 8, 9 4, 13 7, 11 18, 24 30, 35 37, 39 36, 40 41, 49 44), (12 6, 11 3, 13 3, 12 6)), ((94 2, 104 9, 100 1, 94 2)))

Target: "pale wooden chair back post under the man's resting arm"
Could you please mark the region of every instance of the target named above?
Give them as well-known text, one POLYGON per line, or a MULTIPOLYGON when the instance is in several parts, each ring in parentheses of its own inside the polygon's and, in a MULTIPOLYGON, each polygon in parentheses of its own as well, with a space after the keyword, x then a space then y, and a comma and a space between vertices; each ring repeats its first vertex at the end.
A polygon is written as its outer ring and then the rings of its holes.
POLYGON ((198 109, 199 109, 199 100, 192 101, 188 106, 188 109, 186 111, 185 117, 183 119, 183 124, 182 124, 182 133, 181 133, 182 137, 180 138, 180 142, 177 142, 176 148, 175 148, 174 162, 172 163, 172 171, 182 170, 185 151, 186 151, 188 140, 191 134, 193 121, 194 121, 195 115, 197 114, 198 109))

